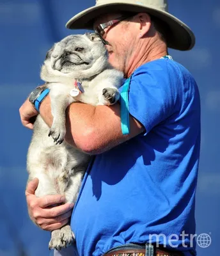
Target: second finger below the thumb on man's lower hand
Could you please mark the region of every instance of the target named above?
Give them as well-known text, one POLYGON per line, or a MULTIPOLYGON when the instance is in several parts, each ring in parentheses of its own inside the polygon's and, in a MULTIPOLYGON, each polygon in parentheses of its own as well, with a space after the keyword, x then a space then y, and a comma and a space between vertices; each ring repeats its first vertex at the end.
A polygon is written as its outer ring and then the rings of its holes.
POLYGON ((52 217, 58 217, 61 214, 65 214, 66 212, 72 210, 74 207, 74 204, 63 204, 56 207, 52 207, 51 209, 42 209, 40 212, 40 216, 42 218, 52 218, 52 217))

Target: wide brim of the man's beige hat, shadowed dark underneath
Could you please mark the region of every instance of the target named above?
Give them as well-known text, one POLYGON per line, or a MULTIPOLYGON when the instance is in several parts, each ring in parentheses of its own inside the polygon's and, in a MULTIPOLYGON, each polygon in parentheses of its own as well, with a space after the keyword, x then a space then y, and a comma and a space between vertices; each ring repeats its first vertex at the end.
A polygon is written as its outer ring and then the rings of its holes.
POLYGON ((118 3, 100 4, 90 7, 83 12, 78 13, 67 22, 68 29, 93 29, 93 22, 99 16, 114 12, 147 12, 153 17, 165 22, 169 28, 169 35, 165 35, 169 48, 180 51, 187 51, 194 47, 195 36, 193 31, 181 20, 168 12, 153 8, 152 6, 143 6, 142 4, 129 4, 121 0, 118 3), (121 3, 120 3, 121 2, 121 3))

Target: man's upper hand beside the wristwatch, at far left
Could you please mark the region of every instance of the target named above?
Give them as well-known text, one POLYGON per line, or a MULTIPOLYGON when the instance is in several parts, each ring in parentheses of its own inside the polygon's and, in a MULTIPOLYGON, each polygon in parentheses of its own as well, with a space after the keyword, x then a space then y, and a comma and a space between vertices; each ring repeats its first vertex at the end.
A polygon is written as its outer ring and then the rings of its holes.
POLYGON ((34 108, 34 106, 27 99, 24 104, 19 109, 20 120, 22 125, 29 129, 33 129, 33 117, 38 115, 38 111, 34 108))

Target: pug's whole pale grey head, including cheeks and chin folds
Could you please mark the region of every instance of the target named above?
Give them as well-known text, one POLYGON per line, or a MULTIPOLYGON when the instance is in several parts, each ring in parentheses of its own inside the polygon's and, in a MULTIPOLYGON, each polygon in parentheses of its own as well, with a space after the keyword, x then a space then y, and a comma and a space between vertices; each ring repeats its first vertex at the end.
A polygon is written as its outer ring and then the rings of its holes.
POLYGON ((97 34, 70 35, 47 52, 41 75, 45 81, 50 80, 48 76, 83 79, 99 74, 106 66, 107 50, 97 34))

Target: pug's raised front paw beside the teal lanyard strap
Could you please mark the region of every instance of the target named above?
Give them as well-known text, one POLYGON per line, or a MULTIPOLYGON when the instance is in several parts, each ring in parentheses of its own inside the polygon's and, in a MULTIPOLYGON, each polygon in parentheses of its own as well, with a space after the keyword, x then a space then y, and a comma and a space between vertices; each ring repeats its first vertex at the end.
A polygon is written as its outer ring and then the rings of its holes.
POLYGON ((102 90, 102 95, 99 97, 100 105, 113 105, 120 98, 120 93, 116 88, 104 88, 102 90))

